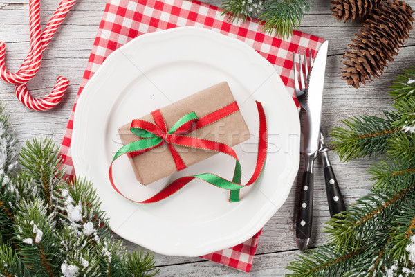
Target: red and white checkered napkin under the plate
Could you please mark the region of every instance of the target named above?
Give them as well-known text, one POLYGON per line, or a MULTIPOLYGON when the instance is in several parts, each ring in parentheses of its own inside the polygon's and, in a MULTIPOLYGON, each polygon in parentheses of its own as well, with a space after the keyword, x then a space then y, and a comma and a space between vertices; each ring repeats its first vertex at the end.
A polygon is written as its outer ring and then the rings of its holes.
MULTIPOLYGON (((324 39, 295 31, 289 39, 282 40, 262 33, 261 25, 257 20, 230 24, 227 18, 221 15, 221 11, 220 8, 199 1, 109 0, 93 44, 92 53, 89 56, 78 97, 86 82, 116 48, 138 35, 177 26, 204 27, 241 39, 266 57, 270 63, 275 64, 275 69, 292 95, 294 92, 293 51, 300 48, 311 48, 313 55, 315 55, 315 50, 320 47, 324 39)), ((61 147, 68 175, 75 175, 71 159, 71 136, 75 107, 76 101, 61 147)), ((249 272, 260 233, 261 231, 242 244, 205 255, 202 258, 249 272)))

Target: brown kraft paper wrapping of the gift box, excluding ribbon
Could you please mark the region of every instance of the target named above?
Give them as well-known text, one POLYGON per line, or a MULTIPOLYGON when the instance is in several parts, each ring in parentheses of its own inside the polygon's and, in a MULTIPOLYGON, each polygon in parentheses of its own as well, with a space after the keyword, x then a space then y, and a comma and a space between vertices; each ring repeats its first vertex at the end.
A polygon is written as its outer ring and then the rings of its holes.
MULTIPOLYGON (((201 118, 234 101, 234 96, 232 95, 232 91, 230 91, 228 83, 221 82, 208 89, 187 96, 182 100, 178 100, 172 105, 163 107, 160 111, 165 118, 167 129, 169 129, 177 120, 191 111, 194 111, 196 115, 201 118)), ((131 120, 133 119, 134 118, 131 118, 131 120)), ((151 114, 147 114, 139 119, 154 123, 151 114)), ((140 139, 130 131, 130 126, 131 122, 118 129, 120 139, 124 145, 140 139)), ((202 127, 201 129, 196 129, 193 132, 186 134, 186 136, 196 136, 201 139, 218 141, 234 146, 248 140, 250 138, 250 133, 245 120, 243 120, 241 111, 237 111, 215 123, 202 127)), ((174 148, 176 148, 187 167, 217 154, 217 152, 186 148, 180 145, 174 145, 174 148)), ((172 153, 169 151, 167 143, 164 143, 163 146, 159 148, 152 149, 149 152, 133 158, 130 157, 129 159, 133 166, 136 179, 143 185, 150 184, 158 179, 177 172, 176 164, 174 163, 172 153)))

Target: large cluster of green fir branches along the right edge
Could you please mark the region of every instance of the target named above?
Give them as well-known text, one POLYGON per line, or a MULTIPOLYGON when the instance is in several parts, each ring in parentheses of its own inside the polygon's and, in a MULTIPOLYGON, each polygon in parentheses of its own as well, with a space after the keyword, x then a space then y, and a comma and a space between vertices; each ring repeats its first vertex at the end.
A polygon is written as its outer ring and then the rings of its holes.
POLYGON ((343 120, 340 159, 376 157, 371 193, 326 223, 328 242, 297 256, 287 276, 415 276, 415 66, 394 80, 393 109, 343 120), (380 160, 380 161, 379 161, 380 160))

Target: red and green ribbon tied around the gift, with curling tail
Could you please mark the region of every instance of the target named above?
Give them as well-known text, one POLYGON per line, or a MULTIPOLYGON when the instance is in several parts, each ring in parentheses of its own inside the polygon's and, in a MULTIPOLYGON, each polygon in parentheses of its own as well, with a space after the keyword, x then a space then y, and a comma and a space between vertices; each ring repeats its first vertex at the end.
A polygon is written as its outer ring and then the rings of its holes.
MULTIPOLYGON (((216 122, 217 120, 225 118, 226 116, 230 116, 230 114, 234 114, 234 112, 239 111, 237 102, 232 102, 230 105, 227 105, 217 111, 214 111, 211 114, 203 116, 202 118, 198 118, 193 111, 188 114, 185 114, 185 116, 183 116, 176 123, 174 123, 174 125, 168 131, 167 125, 165 123, 163 115, 160 112, 160 109, 153 111, 151 113, 151 116, 153 116, 155 124, 140 119, 133 120, 131 122, 130 130, 131 132, 133 132, 133 134, 136 134, 141 139, 124 145, 122 148, 120 148, 120 150, 118 150, 118 152, 113 157, 113 161, 109 166, 109 179, 111 181, 113 188, 118 193, 120 193, 120 195, 122 195, 120 190, 118 190, 118 188, 114 184, 112 176, 112 165, 113 162, 116 159, 118 159, 118 157, 122 156, 123 154, 129 154, 131 157, 136 157, 140 154, 148 152, 151 149, 158 148, 164 143, 167 143, 167 145, 169 145, 169 150, 174 158, 174 162, 176 163, 177 170, 183 170, 184 168, 186 168, 186 166, 183 162, 183 159, 181 159, 177 150, 174 148, 174 145, 181 145, 187 148, 199 148, 228 154, 230 157, 236 160, 234 176, 232 178, 232 181, 228 181, 227 179, 224 179, 212 173, 202 173, 198 175, 185 176, 176 179, 153 197, 137 203, 154 203, 163 200, 169 197, 170 195, 176 193, 178 190, 183 188, 183 186, 188 184, 193 179, 201 179, 214 186, 218 186, 219 188, 230 190, 230 202, 238 202, 239 190, 245 186, 254 184, 255 181, 257 181, 266 160, 268 139, 266 118, 264 108, 262 107, 260 102, 257 102, 257 108, 259 114, 258 157, 254 173, 247 184, 241 185, 241 163, 239 163, 237 154, 229 145, 226 145, 225 143, 220 143, 218 141, 200 139, 194 136, 185 136, 185 134, 188 134, 193 130, 210 125, 216 122)), ((122 196, 129 199, 124 195, 122 196)), ((132 199, 129 200, 136 202, 132 199)))

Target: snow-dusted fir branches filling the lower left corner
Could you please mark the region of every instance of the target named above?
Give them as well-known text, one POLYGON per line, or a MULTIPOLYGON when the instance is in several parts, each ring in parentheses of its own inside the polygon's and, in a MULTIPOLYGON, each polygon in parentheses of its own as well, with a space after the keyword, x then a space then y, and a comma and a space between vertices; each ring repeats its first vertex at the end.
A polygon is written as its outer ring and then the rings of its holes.
POLYGON ((28 141, 20 152, 16 142, 0 105, 0 276, 158 273, 151 253, 127 253, 113 239, 91 184, 63 178, 50 139, 28 141))

